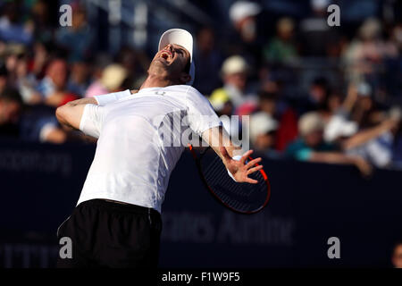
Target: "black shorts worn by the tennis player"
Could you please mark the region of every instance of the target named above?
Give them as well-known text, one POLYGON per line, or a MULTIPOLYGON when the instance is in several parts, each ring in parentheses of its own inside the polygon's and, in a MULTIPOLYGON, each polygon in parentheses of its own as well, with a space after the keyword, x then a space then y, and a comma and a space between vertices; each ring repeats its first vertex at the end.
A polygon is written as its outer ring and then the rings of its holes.
POLYGON ((161 215, 154 209, 88 200, 57 231, 57 267, 155 268, 161 231, 161 215))

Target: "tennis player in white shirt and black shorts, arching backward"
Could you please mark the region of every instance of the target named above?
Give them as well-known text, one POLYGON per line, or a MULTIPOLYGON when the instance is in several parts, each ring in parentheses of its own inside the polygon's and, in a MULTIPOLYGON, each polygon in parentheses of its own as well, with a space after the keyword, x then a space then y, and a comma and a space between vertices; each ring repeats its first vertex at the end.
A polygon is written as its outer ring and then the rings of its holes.
MULTIPOLYGON (((184 29, 169 29, 138 92, 125 90, 82 98, 59 107, 59 122, 97 139, 96 154, 77 206, 57 230, 71 239, 72 257, 59 257, 58 267, 156 267, 162 231, 161 205, 169 177, 185 146, 163 144, 161 129, 172 115, 202 136, 222 157, 235 181, 262 166, 237 156, 222 122, 208 100, 191 84, 193 38, 184 29)), ((177 127, 177 126, 176 126, 177 127)))

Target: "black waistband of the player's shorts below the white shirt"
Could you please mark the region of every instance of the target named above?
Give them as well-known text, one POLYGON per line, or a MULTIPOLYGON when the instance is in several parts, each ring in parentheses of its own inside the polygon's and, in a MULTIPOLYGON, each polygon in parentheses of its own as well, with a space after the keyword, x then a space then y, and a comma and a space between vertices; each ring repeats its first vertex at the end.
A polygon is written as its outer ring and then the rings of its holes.
POLYGON ((122 212, 122 213, 132 213, 132 214, 159 214, 158 211, 156 211, 152 207, 146 207, 146 206, 137 206, 137 205, 132 205, 132 204, 120 204, 119 202, 113 202, 109 200, 105 200, 102 198, 94 198, 94 199, 89 199, 85 202, 80 203, 79 206, 95 206, 99 208, 103 208, 105 210, 111 210, 111 211, 116 211, 116 212, 122 212))

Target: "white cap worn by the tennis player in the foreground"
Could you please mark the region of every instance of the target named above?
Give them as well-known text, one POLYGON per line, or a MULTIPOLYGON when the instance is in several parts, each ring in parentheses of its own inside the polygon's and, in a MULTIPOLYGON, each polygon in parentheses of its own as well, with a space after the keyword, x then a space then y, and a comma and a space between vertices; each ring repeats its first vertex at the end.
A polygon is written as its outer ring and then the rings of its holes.
POLYGON ((193 62, 193 36, 185 29, 168 29, 159 39, 158 51, 169 44, 180 45, 188 50, 190 55, 189 75, 191 76, 191 80, 186 82, 186 84, 189 86, 192 85, 196 76, 196 66, 193 62))

